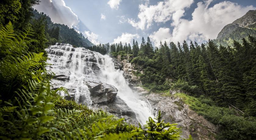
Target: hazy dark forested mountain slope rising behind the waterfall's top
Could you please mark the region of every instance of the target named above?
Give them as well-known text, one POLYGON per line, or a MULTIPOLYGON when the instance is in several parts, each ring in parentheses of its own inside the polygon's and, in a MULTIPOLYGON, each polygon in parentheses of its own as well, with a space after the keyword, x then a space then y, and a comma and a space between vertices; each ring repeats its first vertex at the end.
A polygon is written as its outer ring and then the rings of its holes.
POLYGON ((49 38, 47 38, 49 40, 48 45, 55 44, 56 42, 73 44, 77 47, 90 47, 94 45, 93 43, 91 43, 91 41, 85 38, 82 33, 78 33, 75 29, 69 28, 67 25, 64 24, 53 23, 51 18, 43 12, 39 13, 37 12, 37 10, 34 10, 32 12, 34 14, 33 19, 38 20, 43 17, 44 21, 46 22, 45 31, 46 33, 48 33, 46 37, 50 36, 49 38), (53 38, 55 38, 56 40, 53 38))

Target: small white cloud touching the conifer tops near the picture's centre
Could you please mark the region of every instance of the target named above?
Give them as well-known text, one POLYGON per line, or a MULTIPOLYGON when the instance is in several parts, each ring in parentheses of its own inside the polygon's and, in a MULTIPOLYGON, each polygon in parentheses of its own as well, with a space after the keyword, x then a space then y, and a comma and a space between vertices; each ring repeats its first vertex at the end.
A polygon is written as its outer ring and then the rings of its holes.
POLYGON ((131 33, 122 33, 121 36, 118 36, 114 39, 113 43, 120 43, 120 41, 124 44, 131 43, 134 38, 139 38, 138 34, 131 34, 131 33))

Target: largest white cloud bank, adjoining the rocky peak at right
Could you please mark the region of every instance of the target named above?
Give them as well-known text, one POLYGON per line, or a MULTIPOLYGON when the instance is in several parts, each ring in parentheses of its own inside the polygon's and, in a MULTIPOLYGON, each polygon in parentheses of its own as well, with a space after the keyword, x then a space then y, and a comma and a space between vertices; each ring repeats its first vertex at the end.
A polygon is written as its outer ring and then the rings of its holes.
POLYGON ((197 8, 192 13, 192 19, 182 19, 184 11, 177 10, 172 14, 172 33, 167 33, 169 28, 159 28, 152 33, 150 37, 158 43, 160 40, 182 42, 183 40, 195 40, 199 43, 208 39, 215 39, 222 28, 232 23, 234 20, 242 17, 249 10, 256 9, 252 5, 243 7, 233 2, 220 2, 212 7, 208 7, 210 1, 198 2, 197 8), (167 36, 163 36, 166 34, 167 36))

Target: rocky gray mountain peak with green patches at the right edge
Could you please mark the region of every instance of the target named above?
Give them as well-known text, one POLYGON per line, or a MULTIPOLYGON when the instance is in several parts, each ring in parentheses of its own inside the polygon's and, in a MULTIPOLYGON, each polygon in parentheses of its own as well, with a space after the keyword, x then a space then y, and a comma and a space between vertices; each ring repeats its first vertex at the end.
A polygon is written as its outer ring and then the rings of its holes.
POLYGON ((243 38, 256 36, 256 10, 249 10, 244 16, 233 23, 224 26, 215 42, 222 45, 231 45, 233 40, 242 41, 243 38))

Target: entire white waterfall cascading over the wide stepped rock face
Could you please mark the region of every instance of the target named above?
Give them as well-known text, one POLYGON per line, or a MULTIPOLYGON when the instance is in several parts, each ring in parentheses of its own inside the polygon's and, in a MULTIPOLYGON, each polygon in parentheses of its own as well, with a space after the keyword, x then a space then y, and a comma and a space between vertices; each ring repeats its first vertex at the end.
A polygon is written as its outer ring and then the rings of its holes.
POLYGON ((52 45, 46 51, 50 58, 47 62, 55 65, 50 70, 69 75, 69 80, 61 86, 75 89, 72 92, 75 93, 76 102, 81 103, 79 97, 83 95, 85 99, 82 102, 90 106, 90 91, 85 82, 98 80, 118 89, 117 95, 135 112, 141 124, 145 124, 148 117, 154 117, 150 104, 140 100, 140 96, 133 92, 123 76, 123 71, 115 69, 114 62, 108 55, 85 48, 74 48, 69 44, 52 45))

